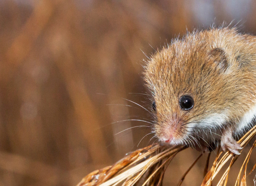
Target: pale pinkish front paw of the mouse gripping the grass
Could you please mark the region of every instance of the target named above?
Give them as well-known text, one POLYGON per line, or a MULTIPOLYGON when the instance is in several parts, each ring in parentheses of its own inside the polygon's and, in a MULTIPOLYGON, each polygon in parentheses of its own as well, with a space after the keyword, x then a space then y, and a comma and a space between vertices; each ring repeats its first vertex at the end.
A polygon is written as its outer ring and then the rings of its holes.
POLYGON ((240 146, 239 143, 233 138, 232 133, 223 133, 220 141, 220 146, 223 151, 227 151, 227 149, 236 155, 240 155, 238 150, 241 150, 243 147, 240 146))

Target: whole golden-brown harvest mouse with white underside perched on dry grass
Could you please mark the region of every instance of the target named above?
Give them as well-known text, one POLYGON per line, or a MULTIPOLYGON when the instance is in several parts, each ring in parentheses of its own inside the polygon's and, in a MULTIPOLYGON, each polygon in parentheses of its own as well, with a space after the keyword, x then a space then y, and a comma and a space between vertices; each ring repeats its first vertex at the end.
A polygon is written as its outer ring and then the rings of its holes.
POLYGON ((256 37, 235 28, 187 33, 145 66, 159 141, 221 148, 239 155, 234 137, 256 116, 256 37))

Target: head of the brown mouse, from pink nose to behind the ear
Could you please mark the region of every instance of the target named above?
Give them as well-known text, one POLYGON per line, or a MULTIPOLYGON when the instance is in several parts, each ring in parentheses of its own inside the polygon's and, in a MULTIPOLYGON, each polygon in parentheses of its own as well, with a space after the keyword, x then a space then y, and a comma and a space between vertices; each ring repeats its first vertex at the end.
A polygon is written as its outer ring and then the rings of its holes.
POLYGON ((246 110, 248 103, 240 102, 248 100, 244 88, 248 78, 234 62, 235 52, 225 41, 218 44, 212 34, 197 32, 174 40, 145 67, 157 119, 155 132, 161 141, 188 144, 195 134, 239 120, 246 110))

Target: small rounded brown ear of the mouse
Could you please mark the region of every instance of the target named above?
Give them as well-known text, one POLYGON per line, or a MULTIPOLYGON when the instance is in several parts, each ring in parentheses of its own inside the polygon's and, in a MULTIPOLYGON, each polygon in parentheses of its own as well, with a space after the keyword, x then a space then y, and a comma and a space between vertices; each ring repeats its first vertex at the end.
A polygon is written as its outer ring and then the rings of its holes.
POLYGON ((225 72, 227 70, 228 61, 227 61, 226 53, 223 49, 214 48, 210 51, 209 55, 210 55, 210 58, 212 58, 212 60, 214 60, 214 62, 217 63, 218 68, 222 72, 225 72))

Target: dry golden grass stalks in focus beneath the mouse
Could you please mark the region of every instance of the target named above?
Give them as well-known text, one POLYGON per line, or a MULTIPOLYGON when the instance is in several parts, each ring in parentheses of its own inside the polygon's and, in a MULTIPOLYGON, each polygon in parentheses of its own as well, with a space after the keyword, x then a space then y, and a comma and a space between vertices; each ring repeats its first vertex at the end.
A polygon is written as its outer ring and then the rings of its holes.
MULTIPOLYGON (((256 125, 247 132, 238 143, 245 147, 249 141, 256 134, 256 125)), ((236 177, 236 185, 246 185, 246 172, 247 164, 252 154, 253 148, 256 146, 256 140, 251 146, 249 153, 247 154, 244 162, 240 168, 240 171, 236 177), (242 175, 243 172, 243 175, 242 175), (242 178, 241 178, 242 176, 242 178)), ((77 186, 110 186, 110 185, 121 185, 131 186, 140 184, 145 185, 162 185, 163 177, 167 166, 170 164, 171 160, 181 151, 186 149, 184 146, 174 146, 171 148, 161 146, 158 143, 154 143, 151 146, 141 148, 133 151, 129 155, 126 155, 123 159, 119 160, 112 166, 102 168, 101 170, 94 171, 83 178, 83 180, 77 184, 77 186)), ((241 150, 241 154, 243 149, 241 150)), ((181 177, 178 185, 181 185, 186 175, 189 173, 191 168, 197 163, 198 159, 202 157, 203 154, 199 155, 195 162, 188 168, 188 170, 181 177)), ((218 173, 223 170, 226 164, 229 166, 224 170, 221 178, 218 180, 217 185, 227 185, 228 175, 231 167, 236 162, 239 155, 234 155, 227 151, 224 153, 218 148, 216 158, 212 163, 210 171, 204 176, 201 186, 212 185, 212 181, 215 179, 218 173), (231 159, 231 160, 230 160, 231 159), (230 160, 230 161, 229 161, 230 160)), ((210 155, 207 157, 206 168, 210 160, 210 155)), ((255 169, 256 164, 253 166, 252 171, 255 169)), ((234 177, 234 176, 233 176, 234 177)))

